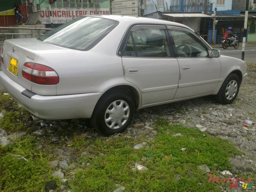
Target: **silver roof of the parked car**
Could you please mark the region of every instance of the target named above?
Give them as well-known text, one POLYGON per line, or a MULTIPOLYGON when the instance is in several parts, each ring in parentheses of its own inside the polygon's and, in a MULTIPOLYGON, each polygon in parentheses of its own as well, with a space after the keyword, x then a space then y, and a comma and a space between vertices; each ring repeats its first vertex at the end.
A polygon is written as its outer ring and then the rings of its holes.
POLYGON ((126 16, 126 15, 88 15, 88 17, 102 17, 106 19, 111 19, 111 20, 117 20, 120 23, 126 23, 128 25, 134 24, 134 23, 154 23, 154 24, 163 24, 163 25, 175 25, 179 27, 185 27, 193 31, 193 29, 189 28, 186 25, 172 22, 172 21, 167 21, 167 20, 161 20, 161 19, 153 19, 153 18, 148 18, 148 17, 132 17, 132 16, 126 16))

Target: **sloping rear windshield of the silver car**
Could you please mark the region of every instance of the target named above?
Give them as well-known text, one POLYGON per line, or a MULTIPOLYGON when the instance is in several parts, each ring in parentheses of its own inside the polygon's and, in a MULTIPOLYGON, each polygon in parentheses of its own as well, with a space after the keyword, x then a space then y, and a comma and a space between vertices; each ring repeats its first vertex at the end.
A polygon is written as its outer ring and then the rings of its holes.
POLYGON ((87 51, 100 42, 118 21, 99 17, 79 17, 50 31, 38 40, 60 47, 87 51))

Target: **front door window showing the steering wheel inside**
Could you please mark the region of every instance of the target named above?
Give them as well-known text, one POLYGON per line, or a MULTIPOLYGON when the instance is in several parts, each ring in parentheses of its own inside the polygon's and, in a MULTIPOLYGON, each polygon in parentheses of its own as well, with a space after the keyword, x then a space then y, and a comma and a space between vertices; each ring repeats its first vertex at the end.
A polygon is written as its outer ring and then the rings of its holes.
POLYGON ((179 29, 169 29, 169 32, 176 48, 176 57, 208 57, 208 49, 191 32, 179 29))

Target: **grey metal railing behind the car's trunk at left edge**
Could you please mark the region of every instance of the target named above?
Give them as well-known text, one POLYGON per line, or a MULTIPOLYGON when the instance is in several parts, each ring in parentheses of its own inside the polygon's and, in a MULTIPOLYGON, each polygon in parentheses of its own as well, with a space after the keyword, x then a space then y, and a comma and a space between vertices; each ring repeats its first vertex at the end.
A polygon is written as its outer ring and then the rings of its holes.
POLYGON ((0 27, 0 30, 1 29, 13 29, 14 31, 15 30, 31 30, 30 33, 0 33, 0 36, 5 36, 5 39, 7 39, 7 36, 11 36, 12 39, 13 38, 20 38, 21 35, 23 36, 30 36, 30 37, 39 37, 39 36, 42 36, 46 33, 46 31, 50 31, 52 30, 52 28, 30 28, 30 27, 0 27), (37 34, 34 33, 34 30, 37 30, 37 34), (45 33, 41 33, 42 31, 44 31, 45 33), (14 37, 15 36, 15 37, 14 37))

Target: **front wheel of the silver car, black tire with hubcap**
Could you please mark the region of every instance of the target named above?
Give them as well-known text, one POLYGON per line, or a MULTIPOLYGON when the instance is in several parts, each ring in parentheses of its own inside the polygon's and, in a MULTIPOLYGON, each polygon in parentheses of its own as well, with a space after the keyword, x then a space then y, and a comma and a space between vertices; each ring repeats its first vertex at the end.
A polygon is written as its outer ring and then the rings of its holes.
POLYGON ((216 100, 224 105, 232 103, 239 92, 239 86, 239 77, 234 73, 230 73, 221 85, 216 95, 216 100))

